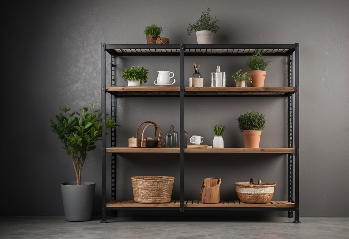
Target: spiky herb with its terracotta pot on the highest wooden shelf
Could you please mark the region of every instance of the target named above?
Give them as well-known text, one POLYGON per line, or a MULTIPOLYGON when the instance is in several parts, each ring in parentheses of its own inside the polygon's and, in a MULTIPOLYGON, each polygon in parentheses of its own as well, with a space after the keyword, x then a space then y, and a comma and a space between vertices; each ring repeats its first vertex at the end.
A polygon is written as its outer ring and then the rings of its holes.
POLYGON ((265 68, 269 64, 270 61, 266 61, 265 57, 262 57, 262 50, 257 49, 253 54, 252 57, 249 58, 246 62, 246 65, 251 68, 250 71, 248 71, 248 74, 252 77, 252 84, 251 86, 254 87, 263 87, 264 86, 264 79, 266 75, 265 68))

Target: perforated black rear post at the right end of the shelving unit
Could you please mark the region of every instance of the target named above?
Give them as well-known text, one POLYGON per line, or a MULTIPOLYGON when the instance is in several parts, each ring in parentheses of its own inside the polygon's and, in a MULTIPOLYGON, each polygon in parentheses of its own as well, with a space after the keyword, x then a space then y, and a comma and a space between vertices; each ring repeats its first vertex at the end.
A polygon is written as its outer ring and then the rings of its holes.
MULTIPOLYGON (((293 86, 293 67, 292 67, 292 55, 293 52, 290 53, 287 57, 288 64, 288 86, 293 86)), ((294 94, 290 94, 287 98, 288 102, 288 110, 287 110, 287 126, 288 126, 288 147, 293 148, 293 134, 292 134, 292 125, 293 125, 293 98, 294 94)), ((288 201, 293 201, 293 157, 294 154, 287 155, 287 191, 288 191, 288 201)), ((288 217, 293 217, 293 211, 288 211, 288 217)))

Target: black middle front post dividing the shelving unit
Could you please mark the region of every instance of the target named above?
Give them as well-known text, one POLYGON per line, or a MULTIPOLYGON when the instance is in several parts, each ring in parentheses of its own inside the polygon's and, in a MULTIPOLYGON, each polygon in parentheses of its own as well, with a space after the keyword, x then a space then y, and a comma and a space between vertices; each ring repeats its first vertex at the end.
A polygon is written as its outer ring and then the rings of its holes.
POLYGON ((179 92, 179 173, 180 173, 180 212, 184 212, 184 44, 179 51, 180 92, 179 92))

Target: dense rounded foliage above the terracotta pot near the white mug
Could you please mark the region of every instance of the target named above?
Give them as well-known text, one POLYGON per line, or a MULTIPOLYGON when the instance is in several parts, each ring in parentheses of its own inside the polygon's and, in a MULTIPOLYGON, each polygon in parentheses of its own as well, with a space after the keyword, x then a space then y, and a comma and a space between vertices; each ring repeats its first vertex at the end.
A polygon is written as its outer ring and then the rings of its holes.
POLYGON ((247 111, 240 115, 237 119, 240 132, 243 130, 263 130, 265 128, 265 115, 258 111, 247 111))

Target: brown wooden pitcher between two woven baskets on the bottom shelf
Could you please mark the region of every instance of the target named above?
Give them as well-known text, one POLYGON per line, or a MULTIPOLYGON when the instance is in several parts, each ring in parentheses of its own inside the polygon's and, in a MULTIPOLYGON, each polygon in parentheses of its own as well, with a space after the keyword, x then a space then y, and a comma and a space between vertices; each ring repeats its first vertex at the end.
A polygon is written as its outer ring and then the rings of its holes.
POLYGON ((199 194, 202 203, 218 203, 220 202, 220 186, 221 178, 205 178, 202 181, 199 194))

